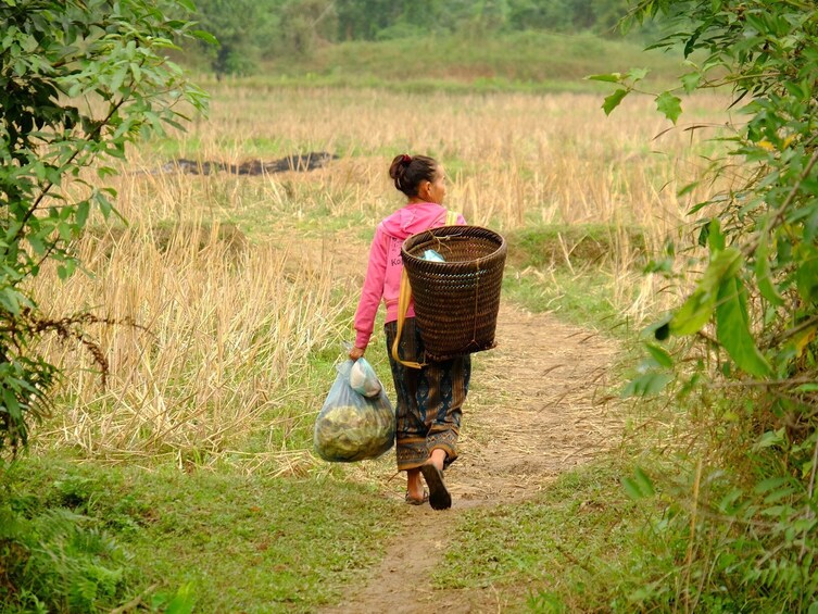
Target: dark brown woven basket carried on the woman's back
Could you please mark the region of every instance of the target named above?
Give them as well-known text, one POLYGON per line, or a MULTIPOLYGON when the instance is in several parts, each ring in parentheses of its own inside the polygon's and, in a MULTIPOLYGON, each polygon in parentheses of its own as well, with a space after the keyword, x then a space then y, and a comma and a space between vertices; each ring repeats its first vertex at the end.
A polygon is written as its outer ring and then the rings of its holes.
POLYGON ((444 361, 495 346, 505 239, 480 226, 441 226, 401 248, 426 359, 444 361), (423 258, 432 249, 445 262, 423 258))

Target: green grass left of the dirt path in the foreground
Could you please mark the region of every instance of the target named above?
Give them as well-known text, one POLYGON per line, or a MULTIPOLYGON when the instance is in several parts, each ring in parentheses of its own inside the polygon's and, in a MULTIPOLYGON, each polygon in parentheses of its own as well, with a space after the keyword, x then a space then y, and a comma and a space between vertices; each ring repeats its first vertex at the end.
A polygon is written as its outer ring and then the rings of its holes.
POLYGON ((15 518, 8 538, 0 515, 0 549, 17 554, 0 557, 3 613, 37 611, 35 596, 48 612, 315 612, 366 581, 404 505, 400 485, 382 497, 326 471, 185 473, 47 454, 15 464, 0 477, 0 514, 15 518), (87 607, 63 605, 91 584, 87 607))

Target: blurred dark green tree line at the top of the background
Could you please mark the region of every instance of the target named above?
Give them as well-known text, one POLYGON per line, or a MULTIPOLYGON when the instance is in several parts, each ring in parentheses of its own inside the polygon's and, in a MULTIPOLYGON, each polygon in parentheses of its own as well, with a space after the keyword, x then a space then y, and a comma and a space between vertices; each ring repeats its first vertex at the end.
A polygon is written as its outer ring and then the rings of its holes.
POLYGON ((318 45, 413 36, 548 30, 612 34, 628 0, 198 0, 216 39, 217 74, 253 71, 265 57, 310 55, 318 45))

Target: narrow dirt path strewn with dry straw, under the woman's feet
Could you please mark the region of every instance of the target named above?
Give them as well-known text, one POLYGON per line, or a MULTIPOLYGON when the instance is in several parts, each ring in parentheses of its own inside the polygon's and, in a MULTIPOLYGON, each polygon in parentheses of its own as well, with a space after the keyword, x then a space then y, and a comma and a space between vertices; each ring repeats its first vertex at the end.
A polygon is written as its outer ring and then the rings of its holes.
POLYGON ((502 612, 502 596, 490 589, 432 589, 429 574, 449 546, 439 536, 452 535, 462 510, 531 497, 620 429, 613 410, 596 402, 616 351, 611 341, 509 305, 496 338, 495 350, 475 358, 484 368, 464 409, 461 456, 446 472, 452 510, 407 505, 369 584, 327 612, 502 612))

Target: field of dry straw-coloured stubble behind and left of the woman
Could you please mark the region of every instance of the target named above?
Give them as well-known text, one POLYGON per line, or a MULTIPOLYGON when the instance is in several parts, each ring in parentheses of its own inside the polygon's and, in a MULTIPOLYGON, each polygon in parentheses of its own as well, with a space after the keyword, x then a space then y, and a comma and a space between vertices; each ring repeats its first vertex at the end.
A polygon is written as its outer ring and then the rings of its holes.
POLYGON ((76 247, 87 274, 38 279, 53 314, 80 305, 139 325, 91 330, 110 364, 104 389, 86 352, 53 341, 68 409, 43 423, 38 444, 109 461, 309 466, 305 425, 325 393, 310 356, 350 337, 367 239, 401 204, 387 168, 404 151, 442 161, 448 204, 473 224, 608 228, 612 300, 639 319, 658 295, 631 266, 626 229, 649 250, 679 238, 695 196, 676 192, 712 147, 700 133, 716 134, 684 128, 718 126, 722 102, 685 100, 687 123, 654 138, 672 126, 646 97, 606 117, 591 95, 215 89, 209 118, 131 150, 113 184, 127 226, 95 221, 76 247), (309 151, 339 158, 261 176, 160 170, 309 151))

